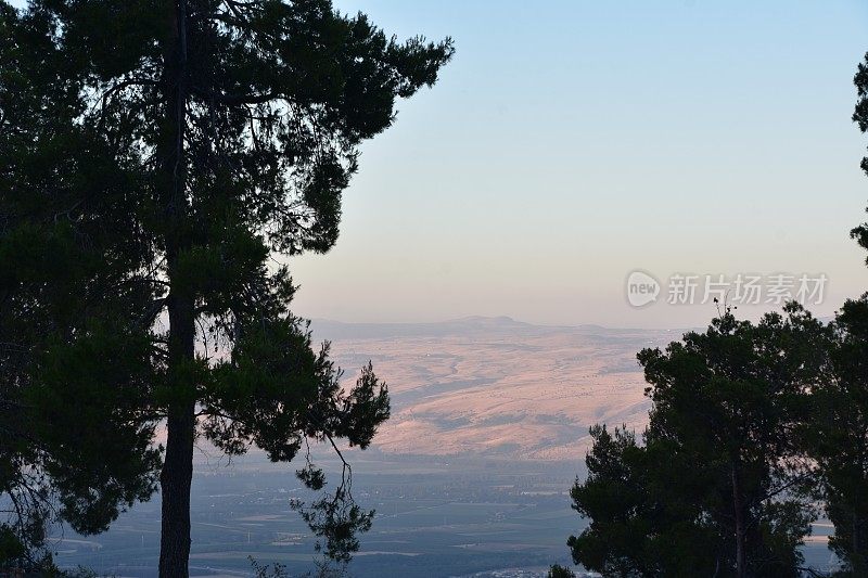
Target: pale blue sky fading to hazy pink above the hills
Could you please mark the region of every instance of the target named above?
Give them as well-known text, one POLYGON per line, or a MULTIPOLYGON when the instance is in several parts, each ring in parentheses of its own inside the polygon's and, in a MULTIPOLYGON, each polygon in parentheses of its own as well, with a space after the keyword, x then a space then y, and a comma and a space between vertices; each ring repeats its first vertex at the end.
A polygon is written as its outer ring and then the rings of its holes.
POLYGON ((295 312, 672 327, 714 308, 633 308, 631 270, 825 273, 820 314, 868 290, 847 237, 868 202, 850 119, 868 3, 337 7, 457 54, 365 145, 337 246, 291 261, 295 312))

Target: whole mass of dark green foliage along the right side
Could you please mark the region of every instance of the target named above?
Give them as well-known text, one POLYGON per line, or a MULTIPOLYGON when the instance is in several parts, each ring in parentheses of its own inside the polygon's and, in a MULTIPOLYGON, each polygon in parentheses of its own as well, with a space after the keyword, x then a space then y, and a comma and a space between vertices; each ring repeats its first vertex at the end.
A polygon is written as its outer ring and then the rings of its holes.
MULTIPOLYGON (((853 120, 868 132, 868 54, 853 120)), ((863 158, 868 172, 868 157, 863 158)), ((851 231, 868 249, 868 223, 851 231)), ((639 354, 652 400, 635 434, 591 428, 590 518, 569 545, 604 576, 799 576, 821 498, 840 576, 868 575, 868 294, 824 325, 800 306, 639 354)), ((813 570, 809 570, 810 574, 813 570)))

